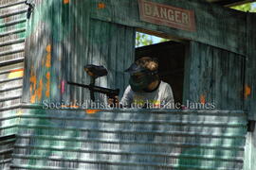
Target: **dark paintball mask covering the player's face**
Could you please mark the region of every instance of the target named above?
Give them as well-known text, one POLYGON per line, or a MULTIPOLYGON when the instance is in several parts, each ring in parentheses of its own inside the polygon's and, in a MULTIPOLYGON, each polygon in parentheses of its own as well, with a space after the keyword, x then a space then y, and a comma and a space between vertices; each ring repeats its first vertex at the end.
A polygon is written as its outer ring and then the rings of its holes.
POLYGON ((129 84, 134 92, 146 91, 149 84, 157 79, 157 71, 150 71, 133 63, 125 72, 130 74, 129 84))

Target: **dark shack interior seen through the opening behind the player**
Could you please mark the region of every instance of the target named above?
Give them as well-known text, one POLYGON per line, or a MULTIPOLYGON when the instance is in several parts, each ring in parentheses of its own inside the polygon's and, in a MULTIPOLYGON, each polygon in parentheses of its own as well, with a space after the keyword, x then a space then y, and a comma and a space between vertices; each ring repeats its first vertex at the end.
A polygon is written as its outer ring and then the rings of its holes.
POLYGON ((159 75, 173 89, 175 102, 182 103, 186 46, 181 42, 160 42, 136 48, 136 59, 157 58, 159 75))

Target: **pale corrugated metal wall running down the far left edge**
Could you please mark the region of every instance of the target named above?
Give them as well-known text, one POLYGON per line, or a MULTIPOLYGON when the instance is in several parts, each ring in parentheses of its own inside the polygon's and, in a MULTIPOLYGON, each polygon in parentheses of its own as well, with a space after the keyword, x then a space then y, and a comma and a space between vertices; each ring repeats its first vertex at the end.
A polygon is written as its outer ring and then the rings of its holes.
POLYGON ((21 103, 27 5, 0 1, 0 169, 9 169, 21 103))

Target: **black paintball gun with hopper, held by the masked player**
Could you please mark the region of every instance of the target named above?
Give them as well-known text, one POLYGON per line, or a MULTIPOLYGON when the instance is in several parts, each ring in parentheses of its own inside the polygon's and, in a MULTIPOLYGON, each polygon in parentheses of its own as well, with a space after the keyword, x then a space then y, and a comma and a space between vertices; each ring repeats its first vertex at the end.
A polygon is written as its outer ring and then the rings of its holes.
POLYGON ((89 85, 70 82, 70 81, 67 81, 67 84, 79 86, 82 88, 87 88, 90 91, 90 97, 92 101, 95 101, 94 93, 104 93, 109 98, 113 98, 114 100, 116 99, 115 96, 119 95, 119 89, 113 90, 113 89, 95 86, 96 78, 107 75, 107 70, 103 66, 89 64, 84 66, 84 71, 91 77, 91 82, 89 85))

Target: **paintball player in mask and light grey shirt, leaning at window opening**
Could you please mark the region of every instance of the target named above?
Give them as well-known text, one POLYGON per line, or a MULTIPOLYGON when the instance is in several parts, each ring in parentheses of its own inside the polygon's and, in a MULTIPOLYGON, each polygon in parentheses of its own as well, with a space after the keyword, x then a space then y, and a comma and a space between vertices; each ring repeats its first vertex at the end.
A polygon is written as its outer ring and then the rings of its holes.
MULTIPOLYGON (((129 86, 119 102, 115 105, 122 108, 166 108, 174 109, 174 95, 171 86, 160 80, 156 59, 143 57, 137 59, 125 72, 130 74, 129 86)), ((108 104, 113 105, 109 98, 108 104)))

